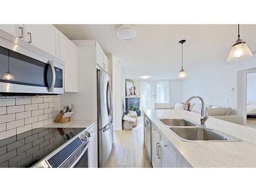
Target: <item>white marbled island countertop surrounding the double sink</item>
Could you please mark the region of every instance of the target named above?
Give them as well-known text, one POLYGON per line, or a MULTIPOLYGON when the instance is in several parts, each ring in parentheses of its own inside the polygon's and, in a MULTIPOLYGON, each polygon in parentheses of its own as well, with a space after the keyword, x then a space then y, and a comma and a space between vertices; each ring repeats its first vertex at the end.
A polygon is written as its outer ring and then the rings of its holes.
POLYGON ((184 118, 200 123, 199 113, 184 110, 144 110, 144 113, 193 167, 256 167, 256 129, 209 117, 206 127, 242 142, 185 142, 159 119, 184 118))

